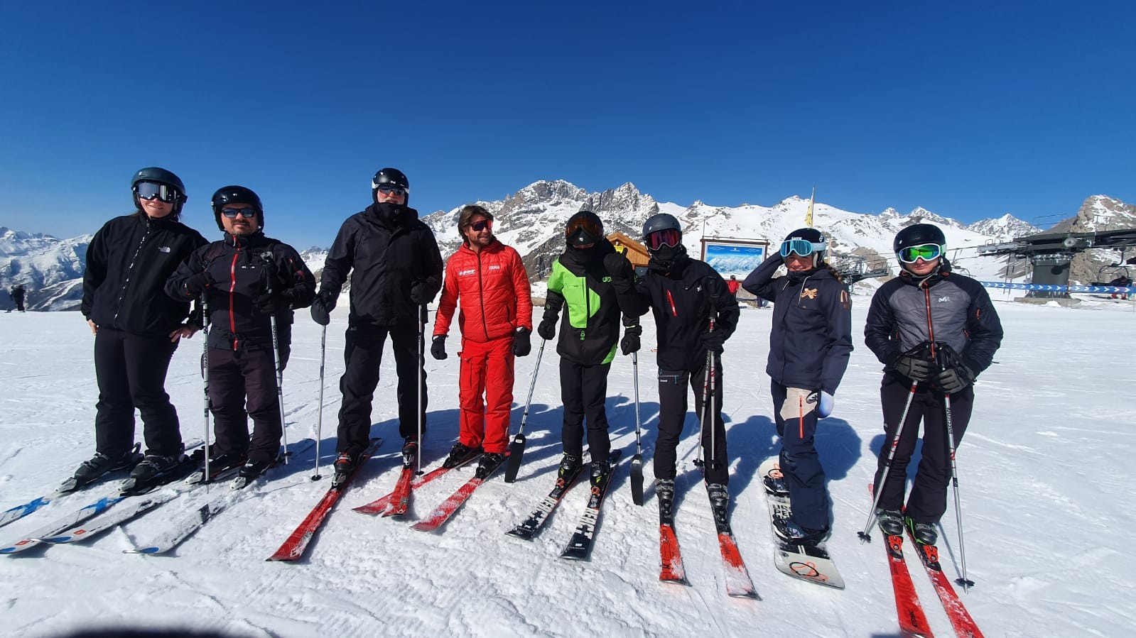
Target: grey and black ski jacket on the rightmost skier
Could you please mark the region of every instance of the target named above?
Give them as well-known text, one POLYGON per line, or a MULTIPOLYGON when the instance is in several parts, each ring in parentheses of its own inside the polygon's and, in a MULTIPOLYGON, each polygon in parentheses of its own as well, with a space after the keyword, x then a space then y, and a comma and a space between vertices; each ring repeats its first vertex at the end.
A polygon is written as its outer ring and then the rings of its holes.
MULTIPOLYGON (((1002 345, 1002 321, 986 288, 970 277, 951 272, 951 265, 943 259, 939 269, 926 279, 901 270, 899 277, 876 291, 863 339, 885 366, 922 343, 947 343, 978 375, 989 367, 1002 345)), ((900 377, 893 370, 888 373, 900 377)))

